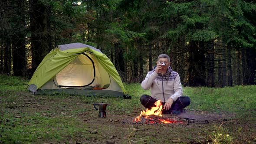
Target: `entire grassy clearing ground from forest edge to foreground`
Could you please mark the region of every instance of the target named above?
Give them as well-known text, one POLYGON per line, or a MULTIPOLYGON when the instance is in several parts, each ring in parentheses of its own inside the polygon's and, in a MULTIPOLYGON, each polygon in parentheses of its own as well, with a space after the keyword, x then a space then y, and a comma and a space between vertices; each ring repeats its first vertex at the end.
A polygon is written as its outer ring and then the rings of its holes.
POLYGON ((0 75, 0 81, 0 144, 256 142, 256 85, 184 87, 184 95, 191 98, 187 111, 225 114, 225 121, 186 126, 141 124, 136 125, 142 129, 138 131, 130 121, 144 110, 140 96, 149 94, 138 83, 125 84, 132 99, 124 100, 81 95, 32 95, 26 91, 27 79, 0 75), (92 106, 102 101, 108 103, 107 118, 98 118, 98 111, 92 106))

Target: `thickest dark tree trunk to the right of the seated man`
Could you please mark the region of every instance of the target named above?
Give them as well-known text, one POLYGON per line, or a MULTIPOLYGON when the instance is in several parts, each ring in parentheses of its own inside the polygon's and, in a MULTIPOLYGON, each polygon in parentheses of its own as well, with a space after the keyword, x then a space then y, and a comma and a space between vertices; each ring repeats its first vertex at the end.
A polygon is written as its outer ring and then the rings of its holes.
POLYGON ((206 69, 203 42, 190 42, 189 47, 189 68, 188 68, 188 86, 206 86, 206 69))

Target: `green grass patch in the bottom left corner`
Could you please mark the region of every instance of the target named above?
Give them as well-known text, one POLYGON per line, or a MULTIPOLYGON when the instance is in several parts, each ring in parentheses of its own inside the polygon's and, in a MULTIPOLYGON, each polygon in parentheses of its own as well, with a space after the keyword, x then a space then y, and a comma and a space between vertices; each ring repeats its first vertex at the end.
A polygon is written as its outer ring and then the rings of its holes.
MULTIPOLYGON (((34 115, 22 114, 21 118, 14 118, 12 115, 4 115, 8 122, 0 125, 2 142, 17 143, 20 141, 40 140, 41 138, 61 139, 66 134, 72 135, 75 132, 84 131, 78 127, 76 119, 66 117, 49 118, 39 113, 34 115), (10 117, 11 116, 11 117, 10 117), (11 136, 11 137, 10 137, 11 136), (13 141, 14 140, 14 141, 13 141)), ((39 141, 38 141, 39 142, 39 141)))

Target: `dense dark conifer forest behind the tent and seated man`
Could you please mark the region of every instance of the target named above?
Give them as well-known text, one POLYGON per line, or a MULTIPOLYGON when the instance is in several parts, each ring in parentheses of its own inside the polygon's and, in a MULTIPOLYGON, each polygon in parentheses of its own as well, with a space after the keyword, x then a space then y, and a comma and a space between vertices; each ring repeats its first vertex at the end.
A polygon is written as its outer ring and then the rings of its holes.
POLYGON ((255 85, 255 0, 0 0, 0 73, 31 77, 61 44, 85 43, 124 82, 166 53, 185 86, 255 85))

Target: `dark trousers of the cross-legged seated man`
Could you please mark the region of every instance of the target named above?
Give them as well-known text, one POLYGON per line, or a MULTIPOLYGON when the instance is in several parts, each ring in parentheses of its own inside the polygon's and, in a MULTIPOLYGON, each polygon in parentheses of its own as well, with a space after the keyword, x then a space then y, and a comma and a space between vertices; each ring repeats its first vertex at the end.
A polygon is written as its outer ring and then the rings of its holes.
MULTIPOLYGON (((158 100, 152 98, 150 95, 141 95, 141 104, 144 105, 145 108, 151 109, 154 107, 154 103, 158 100)), ((165 103, 162 103, 163 105, 165 103)), ((163 113, 168 113, 171 111, 177 111, 181 108, 185 108, 190 104, 190 98, 188 96, 179 97, 174 103, 171 105, 171 109, 169 111, 163 110, 163 113)))

